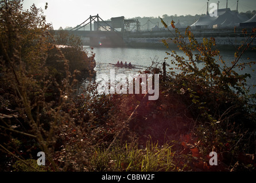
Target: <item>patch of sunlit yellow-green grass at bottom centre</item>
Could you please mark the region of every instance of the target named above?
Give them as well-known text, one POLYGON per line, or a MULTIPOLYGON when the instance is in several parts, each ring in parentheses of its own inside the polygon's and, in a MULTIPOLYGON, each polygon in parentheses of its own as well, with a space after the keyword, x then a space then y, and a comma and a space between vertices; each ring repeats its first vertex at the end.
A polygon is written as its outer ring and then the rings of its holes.
POLYGON ((149 140, 145 148, 136 142, 124 146, 118 144, 109 151, 99 148, 95 150, 91 164, 95 171, 174 171, 178 168, 174 154, 169 143, 158 146, 149 140))

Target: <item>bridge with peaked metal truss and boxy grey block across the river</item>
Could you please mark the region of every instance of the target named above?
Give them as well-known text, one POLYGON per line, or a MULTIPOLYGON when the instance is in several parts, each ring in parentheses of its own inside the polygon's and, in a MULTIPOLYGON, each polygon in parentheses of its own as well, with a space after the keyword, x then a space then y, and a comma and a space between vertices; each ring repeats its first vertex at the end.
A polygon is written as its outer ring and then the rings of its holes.
MULTIPOLYGON (((95 16, 90 15, 90 17, 80 23, 80 25, 65 31, 82 38, 83 45, 123 46, 125 45, 125 32, 140 30, 141 25, 138 19, 114 17, 111 18, 111 21, 104 21, 99 17, 99 14, 97 14, 95 16), (87 25, 90 25, 90 30, 85 30, 87 25)), ((57 33, 58 31, 62 30, 54 30, 53 33, 57 33)))

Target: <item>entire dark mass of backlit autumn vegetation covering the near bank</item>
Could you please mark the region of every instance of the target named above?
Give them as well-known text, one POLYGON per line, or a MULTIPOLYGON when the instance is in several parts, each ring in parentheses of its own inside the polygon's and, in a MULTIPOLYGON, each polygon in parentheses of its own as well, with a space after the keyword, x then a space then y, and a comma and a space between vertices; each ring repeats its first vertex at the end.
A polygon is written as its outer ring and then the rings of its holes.
POLYGON ((79 38, 51 35, 34 5, 24 11, 21 1, 1 1, 0 9, 1 171, 255 170, 255 94, 246 89, 250 75, 235 69, 255 63, 240 58, 256 29, 243 31, 248 39, 226 63, 214 38, 198 43, 172 21, 171 41, 187 58, 169 50, 165 62, 176 68, 165 73, 153 62, 143 71, 160 74, 158 100, 99 94, 96 83, 76 96, 80 64, 91 61, 79 38), (45 166, 36 162, 41 151, 45 166), (218 166, 209 164, 212 151, 218 166))

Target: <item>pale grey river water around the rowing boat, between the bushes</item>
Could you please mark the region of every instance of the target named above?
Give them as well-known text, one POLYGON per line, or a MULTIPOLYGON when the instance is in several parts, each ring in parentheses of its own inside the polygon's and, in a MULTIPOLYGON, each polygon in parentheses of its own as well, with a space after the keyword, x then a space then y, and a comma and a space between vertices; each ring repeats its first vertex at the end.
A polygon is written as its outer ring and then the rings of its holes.
MULTIPOLYGON (((100 74, 110 75, 110 70, 115 69, 115 74, 135 74, 138 73, 139 69, 126 69, 126 68, 118 68, 109 63, 117 63, 117 61, 127 61, 127 63, 131 62, 133 65, 139 68, 145 68, 152 65, 152 61, 154 62, 163 62, 166 55, 165 51, 169 51, 167 49, 153 49, 153 48, 131 48, 131 47, 94 47, 91 49, 90 47, 86 47, 89 53, 95 53, 96 60, 96 77, 98 79, 100 74)), ((170 51, 169 51, 170 52, 170 51)), ((176 50, 177 54, 185 57, 183 51, 176 50)), ((220 54, 223 56, 223 60, 226 63, 230 63, 234 61, 234 51, 232 50, 220 50, 220 54)), ((166 63, 170 62, 170 59, 166 59, 166 63)), ((256 61, 256 51, 249 51, 243 55, 240 62, 249 62, 256 61), (250 58, 247 60, 247 58, 250 58)), ((168 63, 169 64, 169 63, 168 63)), ((203 63, 199 63, 203 64, 203 63)), ((172 65, 170 65, 172 67, 172 65)), ((250 87, 250 93, 256 93, 256 65, 252 65, 251 68, 243 69, 239 71, 239 73, 249 73, 251 74, 251 78, 247 79, 247 86, 250 87)), ((88 82, 87 79, 84 79, 83 84, 86 85, 88 82)))

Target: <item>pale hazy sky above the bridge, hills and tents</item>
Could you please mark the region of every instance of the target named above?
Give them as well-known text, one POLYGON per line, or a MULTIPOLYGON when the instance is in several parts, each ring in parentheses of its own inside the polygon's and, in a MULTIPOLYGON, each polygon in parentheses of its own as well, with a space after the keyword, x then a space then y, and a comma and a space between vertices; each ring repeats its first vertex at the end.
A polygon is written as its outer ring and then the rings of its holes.
MULTIPOLYGON (((219 8, 226 7, 226 0, 219 0, 219 8)), ((103 20, 111 17, 162 17, 168 15, 186 15, 206 13, 207 0, 24 0, 24 9, 33 3, 44 9, 46 21, 59 27, 74 27, 85 21, 90 15, 99 14, 103 20)), ((217 3, 218 0, 210 0, 217 3)), ((228 7, 236 9, 236 0, 228 0, 228 7)), ((256 10, 256 0, 239 0, 239 11, 256 10)))

